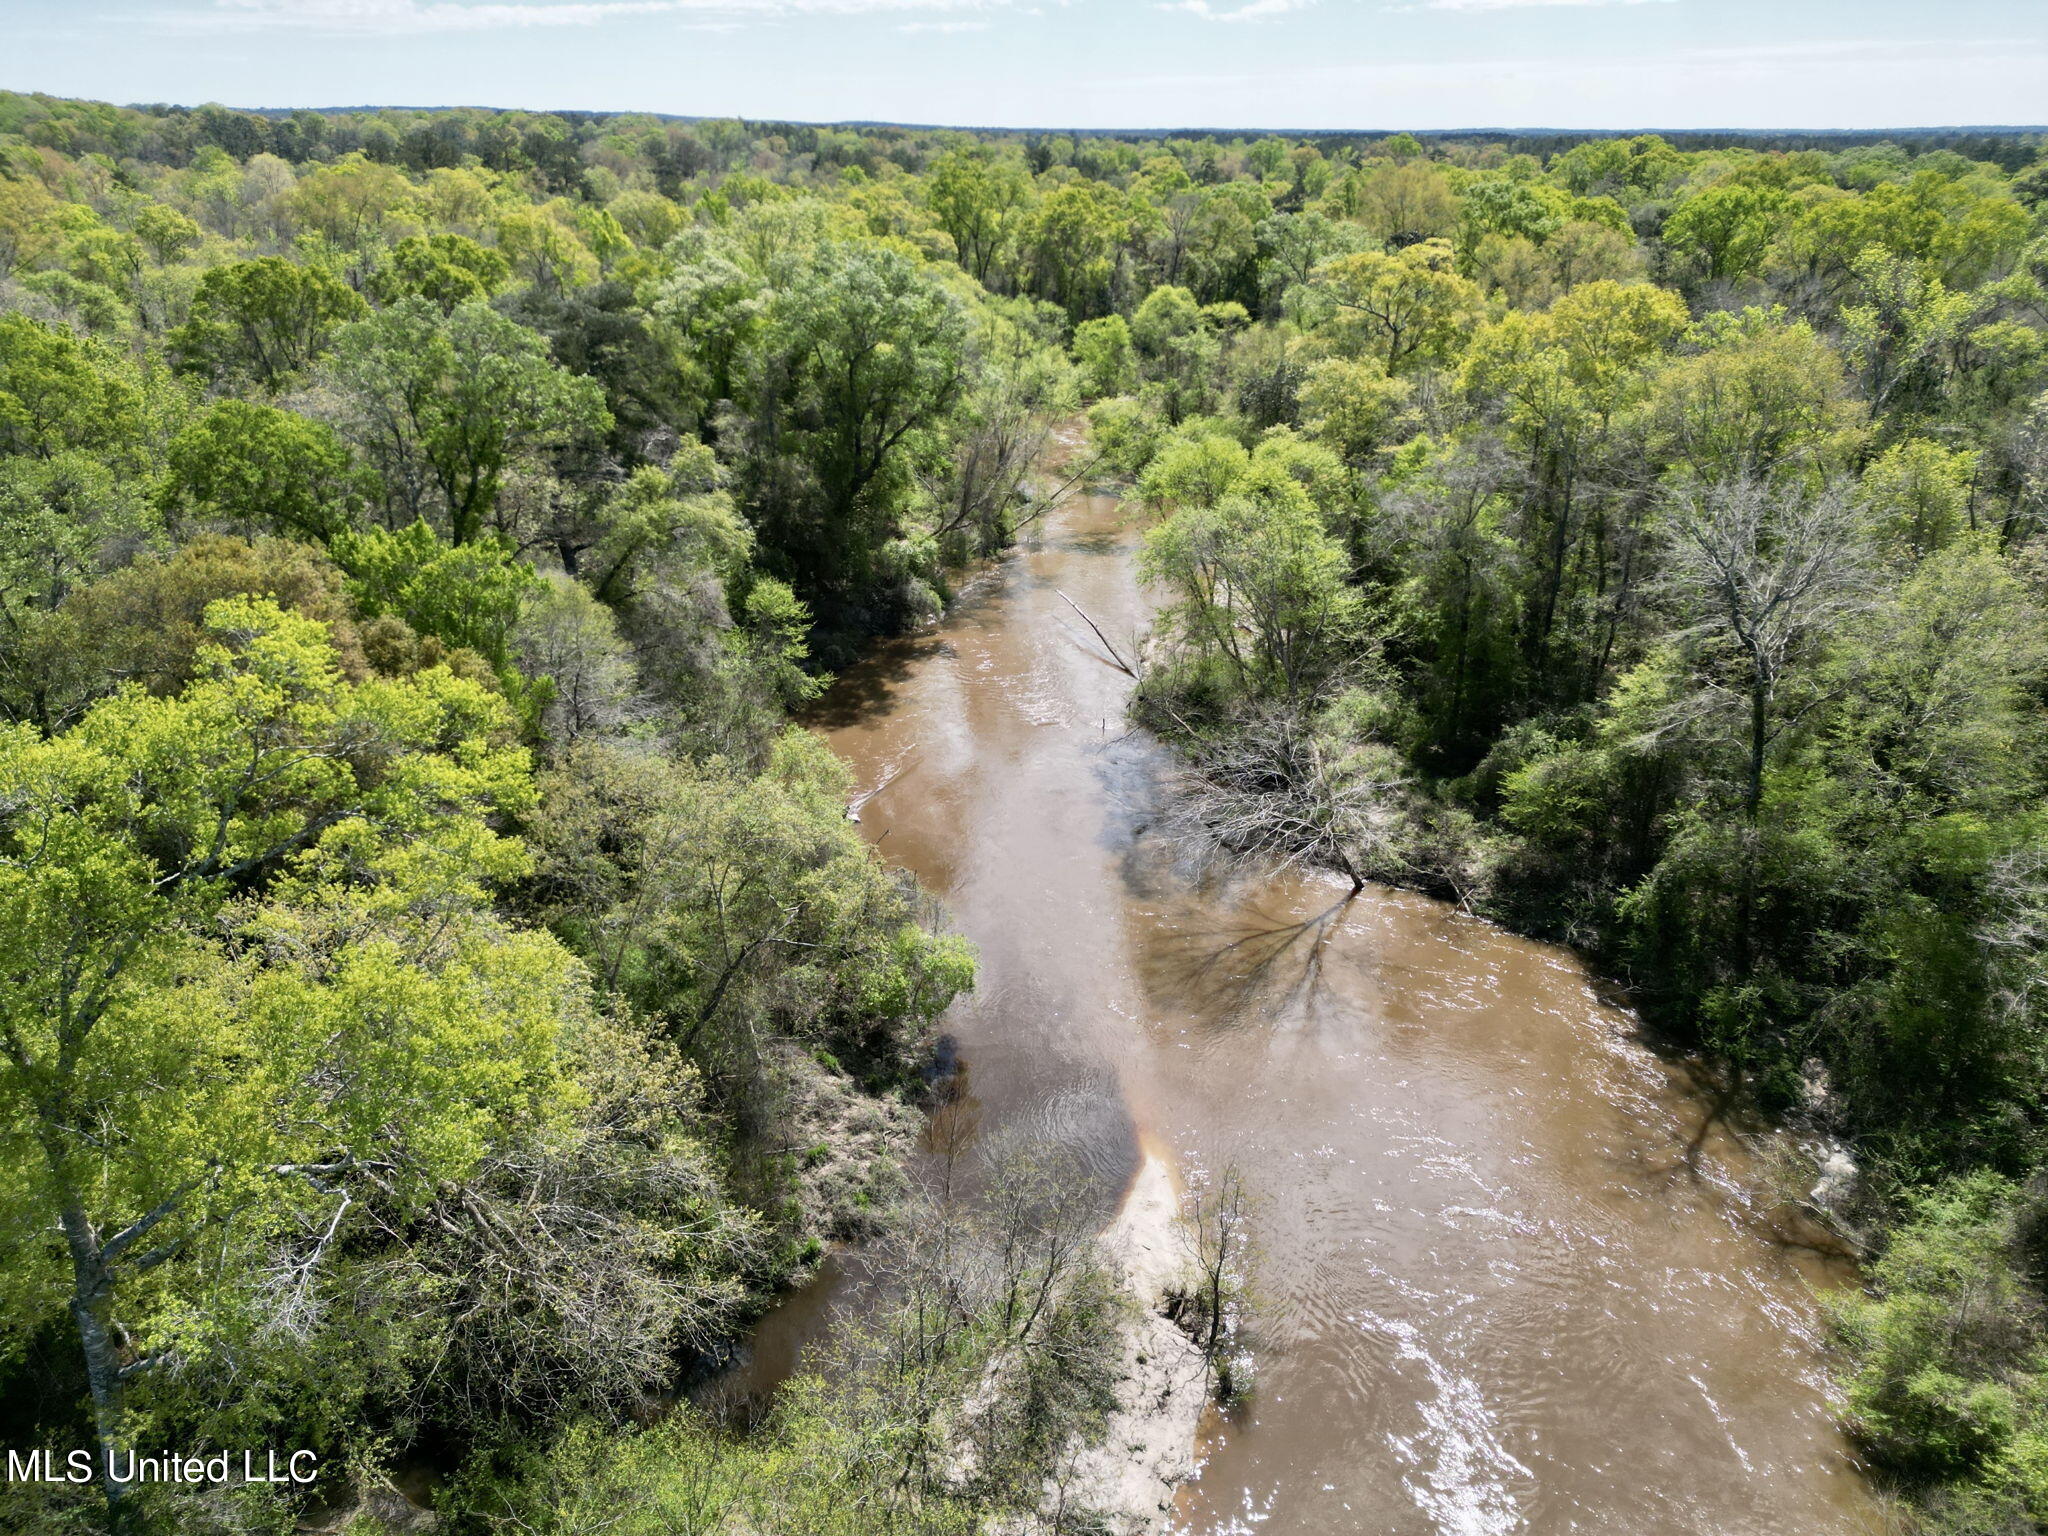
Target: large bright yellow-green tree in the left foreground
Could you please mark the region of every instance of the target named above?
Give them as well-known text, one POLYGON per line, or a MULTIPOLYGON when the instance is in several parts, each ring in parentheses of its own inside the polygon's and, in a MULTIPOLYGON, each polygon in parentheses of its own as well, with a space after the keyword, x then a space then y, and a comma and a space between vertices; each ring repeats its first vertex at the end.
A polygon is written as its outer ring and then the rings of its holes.
POLYGON ((524 868, 485 823, 530 795, 504 707, 446 672, 346 684, 268 602, 207 625, 180 694, 0 737, 6 1317, 70 1305, 102 1438, 111 1329, 203 1352, 358 1171, 403 1212, 573 1104, 575 971, 485 911, 524 868))

